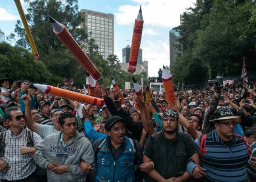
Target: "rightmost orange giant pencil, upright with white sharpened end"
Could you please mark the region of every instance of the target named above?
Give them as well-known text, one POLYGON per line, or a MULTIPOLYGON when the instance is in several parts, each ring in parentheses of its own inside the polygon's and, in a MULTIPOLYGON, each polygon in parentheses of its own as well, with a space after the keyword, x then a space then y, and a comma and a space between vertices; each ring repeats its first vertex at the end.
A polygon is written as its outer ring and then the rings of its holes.
POLYGON ((165 88, 165 95, 167 102, 171 102, 172 104, 175 104, 175 94, 174 94, 174 88, 173 88, 173 80, 172 75, 163 67, 162 72, 162 82, 163 87, 165 88))

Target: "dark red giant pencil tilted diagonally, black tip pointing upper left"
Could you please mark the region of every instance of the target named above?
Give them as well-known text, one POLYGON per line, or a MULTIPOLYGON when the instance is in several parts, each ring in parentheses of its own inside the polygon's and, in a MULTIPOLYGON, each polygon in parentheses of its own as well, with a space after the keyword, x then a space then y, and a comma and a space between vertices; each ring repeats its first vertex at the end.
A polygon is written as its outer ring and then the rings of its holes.
POLYGON ((68 29, 52 17, 48 16, 53 27, 53 32, 57 35, 64 46, 71 52, 71 54, 78 60, 78 62, 84 67, 84 69, 95 79, 98 80, 101 77, 101 72, 97 70, 93 62, 82 51, 78 43, 68 32, 68 29))

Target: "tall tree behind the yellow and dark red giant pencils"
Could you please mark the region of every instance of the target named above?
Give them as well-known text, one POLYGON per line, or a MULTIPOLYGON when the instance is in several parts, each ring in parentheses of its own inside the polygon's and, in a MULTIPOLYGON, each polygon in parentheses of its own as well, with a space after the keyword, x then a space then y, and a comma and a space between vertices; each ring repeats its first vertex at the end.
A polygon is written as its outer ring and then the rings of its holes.
MULTIPOLYGON (((83 47, 87 40, 86 28, 81 25, 84 15, 78 10, 78 0, 25 0, 27 4, 26 18, 30 25, 35 45, 40 56, 40 61, 45 63, 51 72, 50 82, 63 82, 65 78, 74 78, 75 83, 80 86, 85 82, 86 71, 67 51, 58 37, 53 33, 48 15, 63 23, 74 39, 83 47)), ((16 40, 16 45, 31 51, 29 41, 22 23, 18 20, 14 34, 8 40, 16 40)))

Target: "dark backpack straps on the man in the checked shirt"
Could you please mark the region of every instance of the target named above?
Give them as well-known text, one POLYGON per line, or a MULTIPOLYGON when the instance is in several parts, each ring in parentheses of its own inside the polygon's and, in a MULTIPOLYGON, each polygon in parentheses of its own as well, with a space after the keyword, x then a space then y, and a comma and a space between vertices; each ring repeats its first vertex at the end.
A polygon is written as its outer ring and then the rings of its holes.
MULTIPOLYGON (((0 132, 0 157, 4 156, 6 131, 0 132)), ((33 131, 26 130, 27 147, 34 146, 33 131)))

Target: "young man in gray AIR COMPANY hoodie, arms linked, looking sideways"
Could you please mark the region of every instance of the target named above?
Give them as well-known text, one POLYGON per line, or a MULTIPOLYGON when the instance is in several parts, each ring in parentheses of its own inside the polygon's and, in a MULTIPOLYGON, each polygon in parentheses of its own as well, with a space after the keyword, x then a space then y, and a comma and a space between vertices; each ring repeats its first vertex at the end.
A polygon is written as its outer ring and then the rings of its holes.
POLYGON ((82 173, 80 162, 95 166, 93 147, 88 139, 76 131, 75 115, 65 112, 59 117, 60 132, 46 137, 34 148, 23 148, 22 153, 35 153, 34 161, 47 169, 48 181, 84 182, 86 174, 82 173))

